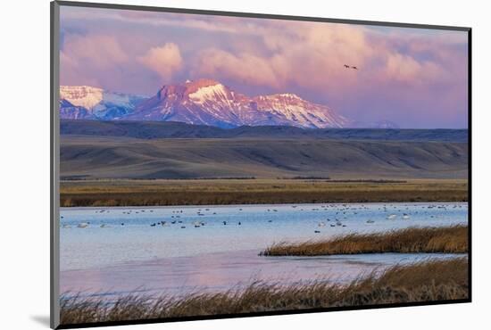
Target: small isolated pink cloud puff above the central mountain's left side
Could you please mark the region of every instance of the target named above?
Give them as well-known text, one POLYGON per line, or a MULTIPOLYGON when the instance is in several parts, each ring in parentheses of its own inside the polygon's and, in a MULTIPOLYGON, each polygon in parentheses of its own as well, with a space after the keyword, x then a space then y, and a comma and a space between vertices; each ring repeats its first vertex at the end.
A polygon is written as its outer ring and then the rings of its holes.
POLYGON ((169 80, 183 65, 179 46, 173 43, 151 48, 145 55, 138 57, 138 62, 154 70, 166 80, 169 80))

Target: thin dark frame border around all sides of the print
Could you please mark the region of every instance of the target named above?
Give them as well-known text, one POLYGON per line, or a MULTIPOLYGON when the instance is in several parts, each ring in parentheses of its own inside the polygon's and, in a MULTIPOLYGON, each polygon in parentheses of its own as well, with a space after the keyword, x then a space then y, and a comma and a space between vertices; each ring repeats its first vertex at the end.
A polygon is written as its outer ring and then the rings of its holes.
POLYGON ((152 323, 169 323, 169 322, 183 322, 194 320, 207 320, 218 318, 251 318, 262 316, 279 316, 287 314, 305 314, 305 313, 318 313, 327 311, 339 311, 339 310, 359 310, 359 309, 387 309, 387 308, 399 308, 399 307, 412 307, 412 306, 429 306, 429 305, 443 305, 443 304, 455 304, 455 303, 467 303, 472 301, 472 116, 471 116, 471 103, 472 103, 472 77, 471 77, 471 59, 472 59, 472 43, 471 32, 469 27, 457 27, 457 26, 442 26, 442 25, 427 25, 427 24, 412 24, 412 23, 400 23, 400 22, 388 22, 388 21, 359 21, 359 20, 345 20, 345 19, 332 19, 332 18, 320 18, 320 17, 305 17, 305 16, 293 16, 293 15, 279 15, 279 14, 266 14, 266 13, 254 13, 254 12, 225 12, 225 11, 212 11, 212 10, 197 10, 187 8, 169 8, 169 7, 157 7, 157 6, 143 6, 143 5, 129 5, 129 4, 97 4, 86 2, 71 2, 71 1, 54 1, 50 5, 50 24, 51 24, 51 56, 50 56, 50 106, 51 106, 51 136, 50 136, 50 177, 51 177, 51 191, 50 191, 50 203, 51 203, 51 223, 50 223, 50 253, 51 253, 51 276, 50 276, 50 326, 54 329, 68 329, 68 328, 83 328, 83 327, 96 327, 96 326, 123 326, 123 325, 140 325, 140 324, 152 324, 152 323), (60 144, 59 144, 59 10, 61 6, 70 7, 85 7, 85 8, 104 8, 104 9, 121 9, 121 10, 134 10, 134 11, 146 11, 146 12, 174 12, 174 13, 188 13, 188 14, 200 14, 200 15, 214 15, 214 16, 230 16, 230 17, 244 17, 244 18, 259 18, 259 19, 275 19, 286 21, 312 21, 312 22, 328 22, 328 23, 341 23, 341 24, 356 24, 356 25, 371 25, 371 26, 383 26, 383 27, 395 27, 395 28, 414 28, 414 29, 441 29, 441 30, 454 30, 463 31, 468 34, 468 150, 469 150, 469 169, 468 169, 468 227, 469 227, 469 297, 462 300, 450 300, 450 301, 419 301, 419 302, 407 302, 407 303, 392 303, 392 304, 375 304, 364 305, 356 307, 336 307, 336 308, 322 308, 322 309, 293 309, 293 310, 280 310, 280 311, 268 311, 268 312, 251 312, 248 314, 222 314, 222 315, 210 315, 210 316, 197 316, 197 317, 183 317, 183 318, 155 318, 155 319, 141 319, 141 320, 127 320, 117 322, 95 322, 87 324, 76 325, 60 325, 59 320, 59 208, 60 208, 60 192, 59 192, 59 174, 60 174, 60 144))

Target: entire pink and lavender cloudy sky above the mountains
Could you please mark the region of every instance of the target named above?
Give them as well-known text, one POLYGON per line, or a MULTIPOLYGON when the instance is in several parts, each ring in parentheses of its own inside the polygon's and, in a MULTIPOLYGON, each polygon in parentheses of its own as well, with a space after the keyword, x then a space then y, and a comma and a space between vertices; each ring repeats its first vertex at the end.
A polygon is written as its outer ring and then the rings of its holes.
POLYGON ((467 32, 62 6, 60 82, 154 95, 212 78, 361 123, 467 128, 467 32), (344 64, 358 70, 345 69, 344 64))

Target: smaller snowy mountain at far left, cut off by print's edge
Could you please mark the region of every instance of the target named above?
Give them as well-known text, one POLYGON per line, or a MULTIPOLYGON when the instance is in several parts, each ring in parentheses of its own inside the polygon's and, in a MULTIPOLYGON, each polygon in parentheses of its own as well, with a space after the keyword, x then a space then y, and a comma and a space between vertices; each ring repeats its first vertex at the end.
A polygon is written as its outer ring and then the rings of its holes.
POLYGON ((62 119, 116 120, 132 111, 145 96, 126 95, 88 86, 60 87, 62 119))

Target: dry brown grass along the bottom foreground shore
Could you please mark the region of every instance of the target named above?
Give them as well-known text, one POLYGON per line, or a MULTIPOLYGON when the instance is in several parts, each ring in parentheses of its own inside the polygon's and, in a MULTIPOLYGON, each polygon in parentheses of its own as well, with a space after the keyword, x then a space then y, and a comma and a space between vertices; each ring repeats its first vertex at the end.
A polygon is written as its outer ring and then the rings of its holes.
POLYGON ((150 318, 240 314, 275 310, 462 300, 469 296, 466 258, 430 260, 372 273, 350 285, 317 281, 301 285, 256 281, 225 293, 193 293, 180 299, 129 295, 112 303, 61 299, 62 325, 150 318))

